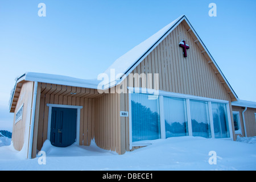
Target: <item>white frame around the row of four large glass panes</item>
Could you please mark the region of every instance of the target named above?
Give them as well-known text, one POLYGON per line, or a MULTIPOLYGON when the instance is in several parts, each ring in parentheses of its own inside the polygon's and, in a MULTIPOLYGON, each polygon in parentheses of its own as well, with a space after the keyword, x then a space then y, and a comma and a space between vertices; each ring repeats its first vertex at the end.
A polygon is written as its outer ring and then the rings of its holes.
POLYGON ((166 131, 165 131, 165 123, 164 123, 164 109, 163 109, 163 96, 166 97, 172 97, 172 98, 183 98, 186 100, 186 106, 187 106, 187 119, 188 119, 188 136, 193 136, 192 134, 192 122, 191 122, 191 108, 190 108, 190 100, 197 100, 197 101, 205 101, 208 102, 208 110, 209 110, 209 119, 210 119, 210 133, 211 138, 214 137, 214 127, 213 127, 213 113, 212 113, 212 102, 222 103, 226 106, 226 114, 228 117, 228 128, 229 128, 229 138, 218 138, 218 139, 231 139, 233 140, 233 131, 232 131, 232 123, 231 123, 231 116, 230 116, 230 107, 229 107, 229 101, 226 100, 218 100, 214 98, 207 98, 207 97, 199 97, 199 96, 191 96, 188 94, 180 94, 180 93, 174 93, 174 92, 166 92, 163 90, 154 90, 154 89, 142 89, 142 88, 134 88, 134 87, 127 87, 129 90, 129 148, 130 150, 132 147, 135 146, 145 146, 150 144, 148 140, 146 142, 132 141, 132 128, 131 125, 131 94, 150 94, 154 95, 156 93, 156 96, 159 96, 159 106, 160 106, 160 133, 161 133, 161 139, 166 138, 166 131))

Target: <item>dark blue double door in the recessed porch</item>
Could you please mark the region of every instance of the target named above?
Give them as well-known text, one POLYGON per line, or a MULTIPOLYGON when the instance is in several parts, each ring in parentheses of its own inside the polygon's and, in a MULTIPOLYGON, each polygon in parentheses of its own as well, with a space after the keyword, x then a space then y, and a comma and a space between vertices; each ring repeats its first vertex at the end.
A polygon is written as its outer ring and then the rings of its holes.
POLYGON ((51 144, 67 147, 76 141, 77 109, 52 107, 51 144))

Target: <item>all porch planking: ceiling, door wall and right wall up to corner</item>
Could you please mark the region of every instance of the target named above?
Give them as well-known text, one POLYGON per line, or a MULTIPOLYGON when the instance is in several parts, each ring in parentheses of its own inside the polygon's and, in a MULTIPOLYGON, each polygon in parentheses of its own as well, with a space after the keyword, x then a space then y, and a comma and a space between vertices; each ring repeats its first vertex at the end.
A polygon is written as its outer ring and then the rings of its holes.
MULTIPOLYGON (((117 89, 119 89, 117 87, 117 89)), ((65 85, 41 84, 38 140, 40 150, 47 139, 47 104, 82 106, 80 110, 79 144, 89 146, 92 139, 106 150, 121 150, 120 94, 99 94, 96 89, 77 88, 65 85), (76 94, 71 94, 76 93, 76 94)), ((122 127, 124 131, 124 127, 122 127)))

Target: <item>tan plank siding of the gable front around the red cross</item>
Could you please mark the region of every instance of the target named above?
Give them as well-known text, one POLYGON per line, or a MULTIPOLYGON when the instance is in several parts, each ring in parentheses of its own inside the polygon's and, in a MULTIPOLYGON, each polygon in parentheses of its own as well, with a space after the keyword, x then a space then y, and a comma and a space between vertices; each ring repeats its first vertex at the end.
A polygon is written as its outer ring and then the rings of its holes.
MULTIPOLYGON (((195 42, 195 38, 187 31, 186 24, 182 22, 177 26, 147 57, 131 72, 122 82, 130 87, 155 88, 154 76, 151 85, 147 80, 148 73, 159 73, 159 90, 189 94, 192 96, 215 98, 229 101, 230 114, 233 120, 231 101, 228 89, 224 86, 224 80, 213 69, 209 58, 201 52, 201 47, 195 42), (179 42, 186 40, 189 45, 188 57, 183 57, 183 50, 179 42), (136 73, 145 73, 146 78, 139 79, 136 73), (130 81, 129 81, 130 79, 130 81)), ((216 69, 216 68, 215 68, 216 69)), ((128 91, 126 90, 126 93, 128 91)), ((121 108, 129 111, 129 94, 121 95, 121 108)), ((131 112, 131 111, 130 111, 131 112)), ((125 148, 129 151, 129 118, 122 118, 125 122, 125 148)), ((232 124, 233 125, 233 124, 232 124)), ((234 126, 232 126, 234 127, 234 126)))

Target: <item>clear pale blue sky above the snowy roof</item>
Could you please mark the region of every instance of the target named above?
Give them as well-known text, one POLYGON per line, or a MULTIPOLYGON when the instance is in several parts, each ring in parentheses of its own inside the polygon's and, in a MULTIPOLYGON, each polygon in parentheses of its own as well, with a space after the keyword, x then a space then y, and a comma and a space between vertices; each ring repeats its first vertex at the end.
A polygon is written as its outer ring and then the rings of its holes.
POLYGON ((256 102, 256 1, 0 0, 0 130, 25 72, 97 78, 119 56, 186 15, 241 100, 256 102), (39 3, 46 16, 38 16, 39 3), (217 16, 210 17, 209 3, 217 16))

